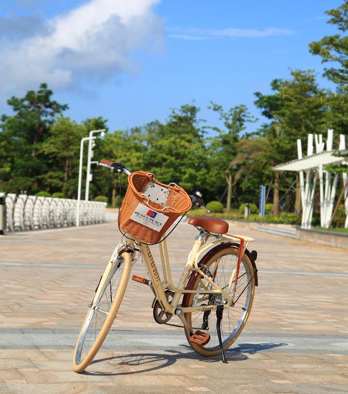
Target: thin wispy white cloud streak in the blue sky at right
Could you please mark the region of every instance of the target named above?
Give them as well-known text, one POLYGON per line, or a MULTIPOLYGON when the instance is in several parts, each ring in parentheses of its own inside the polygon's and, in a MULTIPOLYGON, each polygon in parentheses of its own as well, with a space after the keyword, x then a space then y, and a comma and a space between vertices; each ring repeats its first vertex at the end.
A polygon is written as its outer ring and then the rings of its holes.
POLYGON ((183 28, 173 27, 167 29, 171 38, 180 38, 181 40, 206 40, 208 38, 218 37, 252 37, 262 38, 272 35, 294 34, 295 31, 288 29, 267 28, 264 30, 257 29, 196 29, 196 28, 183 28))

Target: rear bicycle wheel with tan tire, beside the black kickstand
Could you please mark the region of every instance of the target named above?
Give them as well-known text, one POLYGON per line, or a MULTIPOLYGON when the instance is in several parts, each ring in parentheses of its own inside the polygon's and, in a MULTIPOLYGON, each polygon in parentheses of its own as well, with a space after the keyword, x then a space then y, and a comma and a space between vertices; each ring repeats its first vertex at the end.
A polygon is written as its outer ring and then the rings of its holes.
MULTIPOLYGON (((212 267, 212 265, 220 259, 220 262, 217 264, 216 270, 220 268, 221 266, 222 269, 226 265, 225 264, 220 264, 222 261, 223 257, 233 257, 234 262, 238 262, 238 254, 239 254, 239 247, 235 245, 218 245, 215 248, 212 248, 210 251, 208 251, 204 257, 201 259, 199 266, 203 267, 206 266, 208 270, 212 267)), ((237 264, 236 264, 237 265, 237 264)), ((233 269, 233 264, 230 264, 229 266, 232 267, 233 269)), ((214 266, 215 269, 215 266, 214 266)), ((214 277, 214 281, 220 286, 220 288, 223 288, 226 286, 226 278, 231 277, 231 274, 229 275, 224 275, 223 273, 216 273, 214 275, 213 273, 210 273, 214 277), (218 283, 219 282, 219 283, 218 283), (225 284, 222 284, 221 282, 224 282, 225 284)), ((244 253, 241 266, 240 266, 240 272, 238 275, 238 282, 237 282, 237 291, 236 291, 236 296, 235 300, 237 300, 236 304, 234 307, 229 306, 224 308, 224 313, 223 313, 223 319, 221 323, 221 332, 222 332, 222 344, 224 350, 226 350, 228 347, 230 347, 238 338, 239 334, 243 330, 245 323, 249 317, 250 310, 252 309, 253 306, 253 300, 254 300, 254 292, 255 292, 255 277, 254 277, 254 268, 252 263, 250 262, 249 258, 247 255, 244 253), (243 288, 246 286, 245 290, 242 292, 243 288), (240 297, 239 297, 240 295, 240 297), (239 297, 239 298, 238 298, 239 297), (244 310, 242 309, 244 308, 244 310), (240 318, 235 318, 238 313, 240 313, 240 318), (236 324, 233 324, 232 320, 237 321, 236 324), (227 324, 228 322, 228 324, 227 324), (232 324, 231 324, 232 323, 232 324), (227 336, 228 333, 228 336, 227 336)), ((192 274, 186 289, 189 290, 196 290, 199 288, 201 280, 206 281, 202 275, 199 273, 195 272, 192 274)), ((207 282, 207 281, 206 281, 207 282)), ((202 287, 202 286, 201 286, 202 287)), ((193 294, 193 293, 186 293, 183 298, 183 303, 182 305, 184 307, 186 306, 195 306, 202 304, 203 302, 207 302, 207 305, 217 305, 217 302, 211 302, 213 296, 209 297, 202 297, 208 298, 208 300, 203 300, 199 301, 199 295, 198 294, 193 294), (196 300, 196 301, 195 301, 196 300)), ((202 327, 199 327, 200 330, 204 331, 204 326, 203 326, 203 316, 204 313, 208 312, 203 312, 203 311, 198 311, 198 312, 187 312, 184 314, 185 319, 187 321, 187 324, 190 328, 192 326, 199 326, 200 322, 202 321, 202 327)), ((216 312, 215 310, 210 311, 208 314, 208 332, 210 334, 210 341, 202 346, 196 343, 192 343, 189 341, 190 338, 190 333, 187 329, 185 329, 185 334, 187 341, 189 345, 194 349, 197 353, 202 354, 202 356, 217 356, 218 354, 221 353, 220 347, 219 347, 219 342, 217 338, 217 331, 216 331, 216 312), (208 331, 210 329, 210 331, 208 331), (211 331, 214 330, 212 333, 211 331)))

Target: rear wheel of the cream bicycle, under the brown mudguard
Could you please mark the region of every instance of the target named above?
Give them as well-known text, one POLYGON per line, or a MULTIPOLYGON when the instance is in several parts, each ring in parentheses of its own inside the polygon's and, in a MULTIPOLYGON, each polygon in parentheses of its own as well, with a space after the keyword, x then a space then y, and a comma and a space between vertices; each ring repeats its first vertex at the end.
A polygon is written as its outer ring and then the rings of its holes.
MULTIPOLYGON (((205 266, 205 273, 221 289, 229 286, 230 278, 235 280, 238 263, 239 247, 226 245, 211 249, 201 260, 200 266, 205 266)), ((232 287, 232 286, 231 286, 232 287)), ((194 273, 187 284, 187 289, 213 289, 212 285, 199 273, 194 273)), ((222 345, 226 350, 233 344, 241 333, 252 309, 255 290, 253 265, 244 253, 237 280, 234 303, 224 307, 221 322, 222 345)), ((222 294, 186 293, 183 306, 221 305, 225 304, 222 294)), ((220 354, 219 340, 216 329, 216 310, 206 310, 185 313, 187 324, 193 331, 199 329, 210 334, 210 341, 202 346, 189 341, 190 333, 186 330, 186 338, 190 346, 203 356, 217 356, 220 354)))

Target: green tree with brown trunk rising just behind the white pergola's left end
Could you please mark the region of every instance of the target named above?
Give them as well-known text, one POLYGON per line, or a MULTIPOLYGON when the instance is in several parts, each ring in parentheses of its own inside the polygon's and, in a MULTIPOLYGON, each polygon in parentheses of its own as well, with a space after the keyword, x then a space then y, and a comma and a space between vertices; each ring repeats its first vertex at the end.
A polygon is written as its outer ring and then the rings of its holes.
MULTIPOLYGON (((288 80, 271 83, 273 94, 256 92, 255 105, 269 119, 261 129, 267 138, 267 163, 296 159, 296 140, 305 146, 308 133, 324 132, 329 123, 328 91, 319 88, 313 70, 292 70, 288 80)), ((273 207, 279 214, 280 173, 274 176, 273 207)))

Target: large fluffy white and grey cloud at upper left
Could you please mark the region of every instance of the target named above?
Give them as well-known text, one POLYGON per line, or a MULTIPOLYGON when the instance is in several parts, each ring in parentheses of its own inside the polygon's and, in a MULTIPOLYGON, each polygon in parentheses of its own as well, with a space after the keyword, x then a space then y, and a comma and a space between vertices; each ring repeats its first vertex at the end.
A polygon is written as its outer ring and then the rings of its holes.
POLYGON ((152 10, 158 1, 89 0, 47 21, 34 35, 29 28, 23 32, 23 18, 17 24, 7 18, 9 28, 0 30, 3 97, 41 82, 66 88, 81 77, 104 79, 134 70, 135 50, 162 44, 163 22, 152 10))

